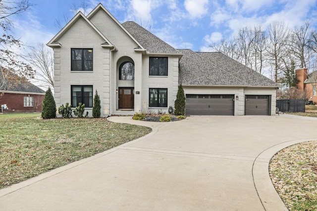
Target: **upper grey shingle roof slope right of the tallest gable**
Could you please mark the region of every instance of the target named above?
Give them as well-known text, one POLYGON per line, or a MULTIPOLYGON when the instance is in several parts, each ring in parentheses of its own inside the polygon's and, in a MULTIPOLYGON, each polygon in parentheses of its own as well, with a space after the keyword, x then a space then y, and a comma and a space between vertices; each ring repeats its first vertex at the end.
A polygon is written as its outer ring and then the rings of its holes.
POLYGON ((133 21, 127 21, 122 26, 149 52, 149 53, 166 53, 179 54, 180 52, 160 40, 157 36, 144 29, 133 21))

